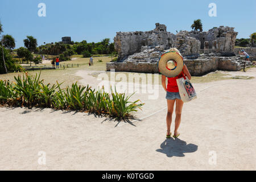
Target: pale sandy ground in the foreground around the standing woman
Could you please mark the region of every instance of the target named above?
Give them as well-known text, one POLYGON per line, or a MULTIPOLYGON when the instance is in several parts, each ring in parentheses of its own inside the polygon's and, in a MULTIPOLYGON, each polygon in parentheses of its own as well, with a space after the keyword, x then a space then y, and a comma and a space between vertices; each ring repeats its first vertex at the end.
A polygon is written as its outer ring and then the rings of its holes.
MULTIPOLYGON (((229 73, 256 77, 256 68, 229 73)), ((84 74, 80 82, 99 81, 84 74)), ((0 169, 255 170, 256 79, 194 86, 198 98, 184 104, 175 140, 165 139, 166 109, 131 125, 86 113, 0 108, 0 169), (38 164, 39 151, 46 152, 46 165, 38 164)), ((135 94, 146 103, 137 117, 166 107, 160 87, 159 96, 135 94)))

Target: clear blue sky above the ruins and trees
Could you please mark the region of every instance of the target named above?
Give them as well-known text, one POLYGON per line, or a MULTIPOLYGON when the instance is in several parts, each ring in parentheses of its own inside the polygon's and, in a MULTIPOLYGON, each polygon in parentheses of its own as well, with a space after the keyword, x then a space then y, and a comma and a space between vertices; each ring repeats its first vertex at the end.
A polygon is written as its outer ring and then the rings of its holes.
POLYGON ((3 34, 24 46, 32 35, 43 42, 59 42, 71 36, 74 42, 99 42, 118 31, 148 31, 155 23, 166 24, 167 31, 191 30, 193 20, 201 19, 203 30, 212 27, 235 27, 237 38, 249 38, 256 32, 255 0, 1 0, 0 20, 3 34), (46 4, 46 17, 38 16, 38 4, 46 4), (209 3, 216 3, 217 17, 210 17, 209 3))

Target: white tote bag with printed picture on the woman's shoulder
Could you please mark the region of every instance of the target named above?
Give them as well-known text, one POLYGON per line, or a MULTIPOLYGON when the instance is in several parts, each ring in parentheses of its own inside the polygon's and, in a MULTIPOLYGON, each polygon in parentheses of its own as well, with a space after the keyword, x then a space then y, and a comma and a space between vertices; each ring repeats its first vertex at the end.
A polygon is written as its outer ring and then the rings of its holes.
POLYGON ((188 77, 185 77, 183 72, 182 75, 183 77, 176 79, 180 98, 183 102, 189 102, 196 98, 196 91, 188 80, 188 77))

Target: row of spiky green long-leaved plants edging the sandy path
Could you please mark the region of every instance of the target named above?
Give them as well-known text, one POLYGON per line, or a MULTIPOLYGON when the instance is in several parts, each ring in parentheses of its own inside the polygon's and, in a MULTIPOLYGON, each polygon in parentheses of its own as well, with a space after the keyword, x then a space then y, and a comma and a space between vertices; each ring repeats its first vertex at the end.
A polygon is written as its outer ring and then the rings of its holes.
POLYGON ((40 74, 14 77, 15 82, 0 80, 0 104, 7 106, 51 107, 54 109, 89 111, 96 114, 108 114, 114 118, 127 118, 131 112, 141 109, 144 104, 139 100, 130 102, 131 96, 124 93, 106 93, 104 88, 96 91, 88 85, 72 84, 61 89, 57 84, 44 84, 40 74))

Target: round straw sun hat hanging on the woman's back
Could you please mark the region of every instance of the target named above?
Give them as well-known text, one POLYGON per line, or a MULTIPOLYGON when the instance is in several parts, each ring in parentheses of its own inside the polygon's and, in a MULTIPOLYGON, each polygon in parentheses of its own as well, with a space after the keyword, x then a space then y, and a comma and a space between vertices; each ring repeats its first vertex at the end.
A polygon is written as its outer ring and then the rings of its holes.
POLYGON ((183 65, 183 57, 178 52, 165 52, 158 61, 159 72, 166 77, 179 75, 183 65))

